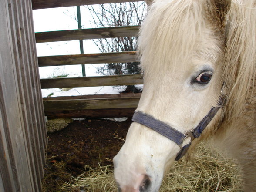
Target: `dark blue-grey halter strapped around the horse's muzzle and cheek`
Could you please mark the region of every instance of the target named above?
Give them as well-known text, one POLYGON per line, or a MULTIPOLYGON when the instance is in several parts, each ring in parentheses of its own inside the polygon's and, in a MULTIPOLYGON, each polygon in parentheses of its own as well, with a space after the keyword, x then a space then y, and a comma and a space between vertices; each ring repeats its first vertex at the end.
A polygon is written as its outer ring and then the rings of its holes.
POLYGON ((167 137, 168 139, 174 141, 177 145, 179 145, 180 151, 175 158, 175 161, 178 161, 180 158, 182 158, 186 154, 194 138, 198 138, 202 134, 202 131, 204 131, 206 126, 210 123, 212 118, 219 111, 219 108, 222 107, 223 101, 224 101, 224 98, 221 97, 219 99, 218 107, 212 107, 209 113, 202 119, 202 121, 200 121, 200 123, 194 129, 187 131, 185 134, 181 133, 180 131, 177 131, 175 128, 172 128, 171 126, 165 124, 164 122, 155 119, 151 115, 147 115, 140 111, 136 111, 134 113, 132 117, 132 121, 153 129, 154 131, 167 137), (191 138, 191 140, 188 144, 183 146, 183 142, 187 138, 191 138))

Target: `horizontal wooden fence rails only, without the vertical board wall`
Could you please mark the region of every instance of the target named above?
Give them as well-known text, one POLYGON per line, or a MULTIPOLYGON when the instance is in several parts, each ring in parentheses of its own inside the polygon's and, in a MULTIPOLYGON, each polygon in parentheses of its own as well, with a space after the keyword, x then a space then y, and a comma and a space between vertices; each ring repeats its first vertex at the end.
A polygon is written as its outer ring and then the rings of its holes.
MULTIPOLYGON (((32 0, 33 9, 118 3, 140 0, 32 0)), ((36 42, 54 42, 137 36, 139 26, 118 26, 93 29, 38 32, 36 42)), ((76 54, 38 57, 39 67, 136 62, 136 51, 115 53, 76 54)), ((41 79, 42 88, 75 88, 143 84, 140 74, 101 77, 73 77, 41 79)), ((43 98, 47 117, 124 117, 131 116, 140 94, 83 95, 75 97, 43 98)))

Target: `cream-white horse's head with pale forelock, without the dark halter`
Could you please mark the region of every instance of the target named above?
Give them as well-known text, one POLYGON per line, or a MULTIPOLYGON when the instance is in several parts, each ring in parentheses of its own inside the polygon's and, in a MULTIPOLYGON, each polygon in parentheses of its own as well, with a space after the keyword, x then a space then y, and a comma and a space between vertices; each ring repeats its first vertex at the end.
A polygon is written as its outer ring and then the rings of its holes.
MULTIPOLYGON (((150 4, 139 37, 144 89, 136 111, 185 134, 218 106, 229 7, 229 0, 155 0, 150 4)), ((209 131, 207 127, 203 135, 209 131)), ((182 145, 190 140, 185 138, 182 145)), ((114 158, 120 192, 157 192, 180 150, 176 142, 152 128, 132 123, 114 158)))

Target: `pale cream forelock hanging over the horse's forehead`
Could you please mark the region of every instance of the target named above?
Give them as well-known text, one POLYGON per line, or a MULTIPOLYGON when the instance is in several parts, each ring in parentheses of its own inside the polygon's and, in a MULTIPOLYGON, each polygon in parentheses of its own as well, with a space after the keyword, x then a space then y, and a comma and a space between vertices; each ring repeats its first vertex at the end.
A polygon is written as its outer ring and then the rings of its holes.
POLYGON ((181 57, 185 60, 191 55, 195 40, 201 35, 202 25, 202 5, 197 1, 164 0, 153 3, 138 40, 142 68, 155 71, 155 67, 180 64, 181 57), (172 62, 168 61, 170 57, 172 62))

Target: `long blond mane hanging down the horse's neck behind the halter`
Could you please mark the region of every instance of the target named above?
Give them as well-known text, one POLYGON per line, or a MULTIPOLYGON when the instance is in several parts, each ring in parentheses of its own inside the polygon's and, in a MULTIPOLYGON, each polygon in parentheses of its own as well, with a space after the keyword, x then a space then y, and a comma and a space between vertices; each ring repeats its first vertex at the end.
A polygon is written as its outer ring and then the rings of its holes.
POLYGON ((255 97, 255 22, 256 1, 233 0, 227 25, 222 75, 227 93, 226 120, 228 122, 238 118, 246 104, 250 104, 255 97))

